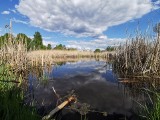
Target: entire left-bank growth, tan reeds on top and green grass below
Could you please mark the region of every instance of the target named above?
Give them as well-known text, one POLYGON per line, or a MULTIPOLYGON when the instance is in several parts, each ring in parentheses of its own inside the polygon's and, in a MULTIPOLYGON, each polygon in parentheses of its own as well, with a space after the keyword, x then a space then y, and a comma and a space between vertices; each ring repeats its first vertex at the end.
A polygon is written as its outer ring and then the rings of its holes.
POLYGON ((34 108, 24 104, 24 72, 27 70, 26 46, 13 38, 0 47, 0 119, 36 120, 34 108))

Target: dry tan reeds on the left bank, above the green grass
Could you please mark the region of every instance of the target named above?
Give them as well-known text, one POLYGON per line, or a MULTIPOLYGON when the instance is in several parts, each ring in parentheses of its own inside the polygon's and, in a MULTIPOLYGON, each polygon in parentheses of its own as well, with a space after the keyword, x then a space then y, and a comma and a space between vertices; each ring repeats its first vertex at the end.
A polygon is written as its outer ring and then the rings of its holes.
POLYGON ((27 50, 22 42, 14 41, 5 43, 0 48, 0 64, 8 64, 15 71, 25 71, 27 66, 27 50))

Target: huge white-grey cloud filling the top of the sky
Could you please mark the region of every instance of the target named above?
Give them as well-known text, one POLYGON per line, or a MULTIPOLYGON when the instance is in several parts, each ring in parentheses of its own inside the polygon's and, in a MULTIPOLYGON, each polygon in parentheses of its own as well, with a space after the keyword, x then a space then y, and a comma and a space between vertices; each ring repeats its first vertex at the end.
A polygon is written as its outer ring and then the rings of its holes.
POLYGON ((150 0, 20 0, 17 11, 30 24, 77 37, 104 37, 108 27, 142 17, 150 0))

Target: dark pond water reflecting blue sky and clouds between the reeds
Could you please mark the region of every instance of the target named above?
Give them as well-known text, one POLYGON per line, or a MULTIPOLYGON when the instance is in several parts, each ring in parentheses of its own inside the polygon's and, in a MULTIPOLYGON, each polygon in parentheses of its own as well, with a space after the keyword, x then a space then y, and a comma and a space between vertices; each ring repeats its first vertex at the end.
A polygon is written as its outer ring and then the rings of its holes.
POLYGON ((57 63, 41 72, 48 79, 40 79, 42 76, 39 74, 38 79, 35 73, 30 73, 26 102, 31 104, 34 100, 43 115, 56 106, 57 97, 53 89, 61 97, 74 90, 78 101, 87 103, 92 110, 126 116, 133 114, 131 96, 124 94, 124 87, 118 84, 109 62, 79 60, 57 63))

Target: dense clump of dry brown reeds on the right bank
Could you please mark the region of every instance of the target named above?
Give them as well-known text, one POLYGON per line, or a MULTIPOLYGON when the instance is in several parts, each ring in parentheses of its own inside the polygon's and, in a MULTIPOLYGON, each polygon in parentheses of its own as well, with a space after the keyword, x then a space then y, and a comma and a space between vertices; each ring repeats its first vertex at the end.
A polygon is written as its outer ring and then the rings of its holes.
POLYGON ((113 69, 120 75, 159 76, 160 36, 139 35, 117 49, 113 69))

